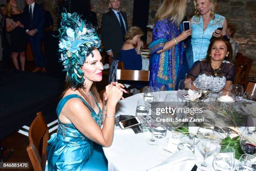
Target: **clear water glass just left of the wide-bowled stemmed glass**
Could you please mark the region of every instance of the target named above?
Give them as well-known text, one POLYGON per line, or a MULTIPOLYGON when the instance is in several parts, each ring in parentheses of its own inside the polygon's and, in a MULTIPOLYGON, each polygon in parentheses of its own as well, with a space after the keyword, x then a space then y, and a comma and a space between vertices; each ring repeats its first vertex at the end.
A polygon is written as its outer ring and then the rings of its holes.
POLYGON ((179 139, 178 150, 182 148, 189 148, 193 153, 195 153, 195 137, 183 134, 179 139))

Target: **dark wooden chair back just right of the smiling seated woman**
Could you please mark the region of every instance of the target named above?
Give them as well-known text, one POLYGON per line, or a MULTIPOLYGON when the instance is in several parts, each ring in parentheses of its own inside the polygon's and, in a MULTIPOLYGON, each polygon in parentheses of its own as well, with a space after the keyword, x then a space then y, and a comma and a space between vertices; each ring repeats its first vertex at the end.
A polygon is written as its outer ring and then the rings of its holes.
POLYGON ((243 66, 243 69, 237 76, 238 80, 236 84, 241 84, 243 85, 244 88, 247 87, 248 76, 249 76, 253 61, 254 61, 253 59, 248 58, 247 56, 241 55, 241 53, 237 55, 237 59, 235 61, 235 69, 236 71, 238 71, 238 68, 240 66, 243 66))

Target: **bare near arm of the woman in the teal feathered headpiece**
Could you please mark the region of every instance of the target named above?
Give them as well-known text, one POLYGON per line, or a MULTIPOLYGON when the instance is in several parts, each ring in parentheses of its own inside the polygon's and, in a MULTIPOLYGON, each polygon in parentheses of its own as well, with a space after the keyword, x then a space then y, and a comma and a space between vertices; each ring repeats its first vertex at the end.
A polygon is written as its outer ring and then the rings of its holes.
POLYGON ((77 98, 70 99, 60 114, 70 120, 79 132, 103 147, 109 147, 112 144, 115 126, 115 117, 113 115, 115 115, 115 106, 122 97, 123 92, 115 86, 111 89, 107 86, 106 94, 108 97, 107 117, 104 120, 102 129, 92 118, 88 107, 77 98))

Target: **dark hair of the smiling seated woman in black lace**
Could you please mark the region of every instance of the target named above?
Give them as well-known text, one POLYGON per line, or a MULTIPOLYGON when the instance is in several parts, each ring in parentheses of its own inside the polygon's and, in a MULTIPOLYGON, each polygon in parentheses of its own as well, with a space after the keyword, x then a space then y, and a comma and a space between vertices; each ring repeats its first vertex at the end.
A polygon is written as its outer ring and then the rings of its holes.
POLYGON ((232 57, 233 57, 233 53, 232 53, 233 50, 232 50, 232 46, 231 46, 230 42, 229 42, 227 39, 223 38, 223 37, 218 37, 218 38, 213 39, 213 40, 210 42, 209 47, 208 47, 208 50, 207 50, 207 55, 206 55, 206 58, 205 58, 205 62, 210 63, 210 61, 211 61, 211 56, 210 56, 210 54, 211 54, 212 46, 213 46, 213 44, 214 44, 216 41, 223 41, 223 42, 226 44, 227 50, 228 50, 229 54, 228 54, 228 56, 225 57, 225 60, 231 61, 231 60, 232 60, 232 57))

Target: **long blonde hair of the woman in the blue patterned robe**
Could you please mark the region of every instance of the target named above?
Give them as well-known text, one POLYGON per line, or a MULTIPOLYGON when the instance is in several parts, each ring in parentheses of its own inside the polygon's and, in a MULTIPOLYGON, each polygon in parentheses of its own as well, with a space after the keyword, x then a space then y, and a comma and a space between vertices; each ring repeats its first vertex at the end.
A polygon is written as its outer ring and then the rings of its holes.
POLYGON ((155 17, 157 20, 170 18, 172 23, 176 21, 179 26, 186 15, 186 8, 187 0, 164 0, 155 17))

